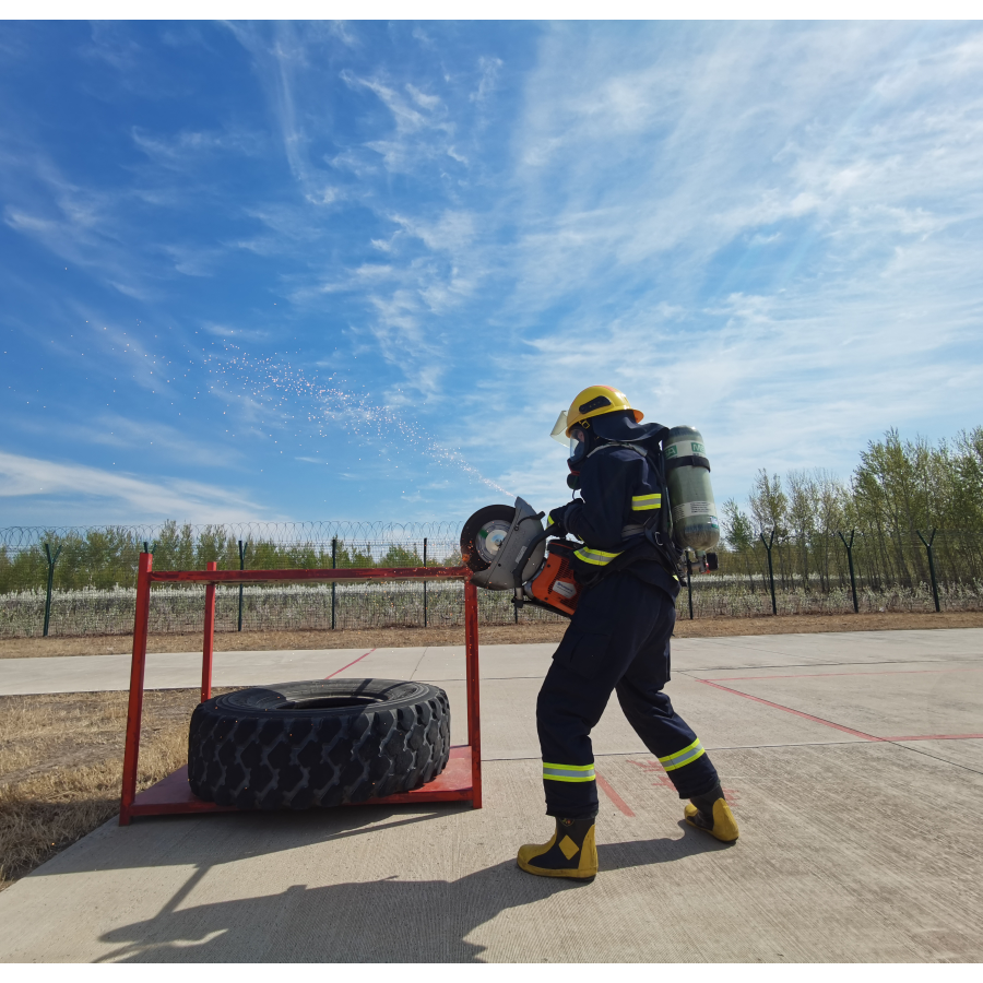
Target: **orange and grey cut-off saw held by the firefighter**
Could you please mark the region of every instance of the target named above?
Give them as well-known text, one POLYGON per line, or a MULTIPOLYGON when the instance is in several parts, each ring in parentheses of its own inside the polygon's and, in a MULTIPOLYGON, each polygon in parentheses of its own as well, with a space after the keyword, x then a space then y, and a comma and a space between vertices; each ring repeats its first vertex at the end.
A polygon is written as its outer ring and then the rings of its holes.
POLYGON ((580 597, 573 577, 573 550, 581 544, 546 538, 545 512, 536 512, 522 498, 514 506, 478 509, 461 532, 461 556, 472 581, 489 591, 512 591, 512 603, 532 604, 571 617, 580 597))

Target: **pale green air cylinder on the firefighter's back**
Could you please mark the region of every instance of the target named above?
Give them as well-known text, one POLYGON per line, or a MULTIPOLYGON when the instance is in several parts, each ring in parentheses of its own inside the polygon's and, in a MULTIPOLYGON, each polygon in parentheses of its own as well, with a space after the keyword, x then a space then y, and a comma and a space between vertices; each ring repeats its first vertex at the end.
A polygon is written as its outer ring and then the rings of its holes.
POLYGON ((696 427, 673 427, 662 442, 673 507, 673 538, 699 552, 720 542, 720 521, 710 485, 710 461, 696 427))

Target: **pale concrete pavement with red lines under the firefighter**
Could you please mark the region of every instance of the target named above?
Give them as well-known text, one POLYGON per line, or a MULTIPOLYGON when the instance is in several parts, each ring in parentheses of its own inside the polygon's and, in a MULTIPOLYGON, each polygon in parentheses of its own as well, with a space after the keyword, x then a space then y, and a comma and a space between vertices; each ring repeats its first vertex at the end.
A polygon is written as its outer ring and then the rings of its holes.
MULTIPOLYGON (((588 886, 514 866, 519 843, 548 832, 534 707, 550 652, 482 649, 484 809, 107 824, 0 895, 0 958, 983 958, 983 630, 674 642, 668 692, 711 748, 742 838, 723 846, 679 821, 614 701, 594 732, 602 874, 588 886)), ((61 685, 55 668, 8 670, 27 662, 70 662, 92 675, 72 687, 104 688, 118 659, 4 660, 0 691, 61 685)), ((197 685, 200 655, 151 664, 151 686, 197 685)), ((462 739, 462 649, 226 653, 215 683, 339 670, 442 685, 462 739)))

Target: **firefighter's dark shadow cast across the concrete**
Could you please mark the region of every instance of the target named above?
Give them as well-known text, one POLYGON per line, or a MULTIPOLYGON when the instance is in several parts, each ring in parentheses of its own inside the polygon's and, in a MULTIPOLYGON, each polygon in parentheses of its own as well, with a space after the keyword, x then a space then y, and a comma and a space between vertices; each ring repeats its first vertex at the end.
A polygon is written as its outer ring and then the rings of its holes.
MULTIPOLYGON (((601 877, 721 846, 694 830, 682 839, 603 844, 597 850, 601 877)), ((100 961, 481 962, 485 947, 467 936, 501 912, 567 891, 600 890, 597 881, 530 876, 509 858, 458 880, 294 885, 270 895, 180 907, 215 871, 213 863, 214 857, 200 866, 153 919, 103 935, 100 941, 116 948, 100 961)), ((583 895, 569 899, 577 920, 583 917, 580 902, 585 900, 583 895)), ((573 924, 569 927, 575 931, 573 924)), ((535 936, 529 934, 531 944, 535 936)), ((523 955, 535 959, 535 954, 523 955)))

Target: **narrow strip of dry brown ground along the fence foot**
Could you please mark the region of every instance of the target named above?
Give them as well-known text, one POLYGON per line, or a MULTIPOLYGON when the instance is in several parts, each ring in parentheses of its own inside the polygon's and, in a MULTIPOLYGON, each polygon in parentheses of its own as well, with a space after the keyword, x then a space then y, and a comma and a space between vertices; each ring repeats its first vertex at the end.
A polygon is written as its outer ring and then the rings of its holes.
MULTIPOLYGON (((481 629, 486 646, 559 641, 567 623, 488 625, 481 629)), ((677 638, 724 638, 734 635, 797 635, 816 631, 889 631, 903 628, 983 628, 983 612, 941 614, 780 615, 758 618, 704 618, 676 623, 677 638)), ((152 635, 150 652, 196 652, 201 635, 152 635)), ((463 628, 366 628, 335 631, 242 631, 215 636, 216 652, 263 652, 289 649, 406 648, 460 646, 463 628)), ((108 655, 131 651, 127 635, 94 635, 81 638, 0 639, 0 659, 45 655, 108 655)))

